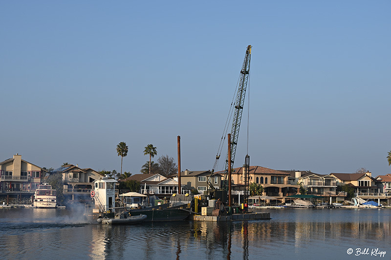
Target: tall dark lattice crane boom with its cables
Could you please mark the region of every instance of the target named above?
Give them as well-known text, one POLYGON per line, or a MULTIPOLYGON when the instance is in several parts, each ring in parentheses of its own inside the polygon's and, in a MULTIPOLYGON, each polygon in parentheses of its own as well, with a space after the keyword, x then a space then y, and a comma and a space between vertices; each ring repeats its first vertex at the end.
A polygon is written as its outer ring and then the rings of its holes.
MULTIPOLYGON (((241 122, 241 116, 242 116, 242 112, 243 112, 243 106, 244 106, 244 98, 245 98, 245 95, 246 95, 246 88, 247 88, 247 83, 248 83, 248 77, 249 77, 249 73, 250 73, 250 60, 251 60, 251 45, 248 45, 247 46, 247 49, 246 49, 246 54, 244 56, 244 61, 243 61, 243 65, 240 69, 240 74, 239 74, 239 87, 238 87, 238 92, 237 92, 237 95, 236 95, 236 100, 235 100, 235 107, 234 107, 234 116, 233 116, 233 120, 232 120, 232 128, 231 128, 231 169, 233 169, 233 165, 234 165, 234 160, 235 160, 235 153, 236 153, 236 147, 237 147, 237 144, 238 144, 238 137, 239 137, 239 129, 240 129, 240 122, 241 122)), ((232 104, 231 104, 232 106, 232 104)), ((231 111, 230 111, 231 113, 231 111)), ((228 118, 230 118, 230 116, 228 116, 228 118)), ((228 121, 228 119, 227 119, 228 121)), ((217 151, 217 155, 216 155, 216 161, 215 161, 215 165, 213 167, 213 170, 212 170, 212 174, 210 175, 210 177, 208 178, 208 186, 209 186, 209 189, 210 190, 214 190, 214 186, 212 185, 211 183, 211 179, 212 179, 212 175, 215 171, 215 168, 217 167, 217 164, 218 164, 218 159, 220 158, 220 154, 221 154, 221 149, 222 149, 222 143, 224 142, 223 140, 225 139, 225 134, 226 134, 226 131, 227 131, 227 123, 226 123, 226 129, 224 130, 223 132, 223 136, 221 137, 221 141, 220 141, 220 147, 217 151)), ((228 178, 228 154, 227 154, 227 159, 225 161, 225 172, 224 172, 224 179, 223 179, 223 182, 222 182, 222 185, 221 185, 221 188, 223 190, 227 190, 228 189, 228 180, 227 181, 227 178, 228 178)))

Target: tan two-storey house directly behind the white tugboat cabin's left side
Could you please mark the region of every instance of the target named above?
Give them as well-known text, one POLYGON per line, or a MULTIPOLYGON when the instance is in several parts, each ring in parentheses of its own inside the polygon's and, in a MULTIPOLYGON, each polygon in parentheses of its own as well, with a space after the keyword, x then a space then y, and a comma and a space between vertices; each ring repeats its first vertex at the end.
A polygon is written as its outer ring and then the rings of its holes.
POLYGON ((93 182, 99 177, 105 175, 98 173, 90 168, 81 169, 76 164, 64 165, 50 174, 62 174, 64 182, 64 197, 69 201, 89 202, 91 201, 90 192, 93 190, 93 182))

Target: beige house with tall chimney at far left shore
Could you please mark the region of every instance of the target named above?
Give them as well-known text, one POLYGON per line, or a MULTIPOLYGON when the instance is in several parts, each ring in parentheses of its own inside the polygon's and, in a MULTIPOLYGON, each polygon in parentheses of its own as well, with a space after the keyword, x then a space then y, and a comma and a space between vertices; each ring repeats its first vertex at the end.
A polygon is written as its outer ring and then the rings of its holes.
POLYGON ((30 197, 41 183, 46 171, 22 159, 16 154, 13 158, 0 162, 0 195, 30 197))

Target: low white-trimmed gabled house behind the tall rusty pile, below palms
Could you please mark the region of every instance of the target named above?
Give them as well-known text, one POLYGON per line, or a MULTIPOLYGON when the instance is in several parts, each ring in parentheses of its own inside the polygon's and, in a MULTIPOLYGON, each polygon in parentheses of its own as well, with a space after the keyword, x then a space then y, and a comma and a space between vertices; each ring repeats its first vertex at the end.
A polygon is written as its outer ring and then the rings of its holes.
MULTIPOLYGON (((134 174, 123 181, 135 180, 141 184, 140 193, 165 197, 178 192, 178 182, 172 178, 166 178, 158 173, 134 174)), ((189 192, 185 185, 181 184, 182 193, 189 192)))

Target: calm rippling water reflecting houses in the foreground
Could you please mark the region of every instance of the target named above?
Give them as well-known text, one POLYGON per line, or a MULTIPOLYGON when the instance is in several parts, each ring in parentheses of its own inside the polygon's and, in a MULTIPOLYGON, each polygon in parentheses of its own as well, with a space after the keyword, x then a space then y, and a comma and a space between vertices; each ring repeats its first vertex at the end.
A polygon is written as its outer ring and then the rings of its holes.
POLYGON ((0 210, 0 259, 391 259, 391 209, 264 211, 271 220, 110 226, 77 211, 0 210))

